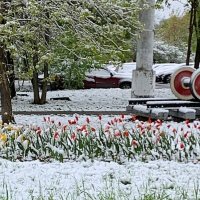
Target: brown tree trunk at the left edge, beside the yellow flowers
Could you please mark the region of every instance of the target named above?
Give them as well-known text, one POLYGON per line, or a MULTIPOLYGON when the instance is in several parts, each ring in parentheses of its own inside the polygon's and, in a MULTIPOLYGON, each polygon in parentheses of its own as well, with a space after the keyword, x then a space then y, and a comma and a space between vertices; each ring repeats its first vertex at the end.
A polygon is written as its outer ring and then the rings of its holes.
POLYGON ((3 123, 14 122, 3 47, 0 47, 0 91, 2 121, 3 123))

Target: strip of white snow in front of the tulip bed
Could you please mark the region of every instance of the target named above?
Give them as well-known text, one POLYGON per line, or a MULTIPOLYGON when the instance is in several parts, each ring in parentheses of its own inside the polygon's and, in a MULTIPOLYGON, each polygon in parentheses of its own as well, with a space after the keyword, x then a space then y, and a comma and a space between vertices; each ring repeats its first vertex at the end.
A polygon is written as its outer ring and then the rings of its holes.
POLYGON ((0 167, 0 194, 5 194, 7 186, 13 199, 31 199, 31 196, 47 199, 51 194, 54 199, 65 199, 69 193, 77 200, 88 194, 98 199, 99 194, 113 191, 116 199, 134 199, 147 193, 146 190, 161 189, 172 199, 185 190, 192 199, 200 178, 200 165, 173 161, 119 165, 101 161, 12 163, 0 159, 0 167))

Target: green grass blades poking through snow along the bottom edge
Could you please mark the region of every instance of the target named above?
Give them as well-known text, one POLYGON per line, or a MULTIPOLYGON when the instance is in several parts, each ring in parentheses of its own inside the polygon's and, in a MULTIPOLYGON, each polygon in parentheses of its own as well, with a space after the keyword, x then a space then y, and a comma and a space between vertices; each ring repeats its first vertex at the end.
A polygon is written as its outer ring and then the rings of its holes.
MULTIPOLYGON (((39 193, 34 194, 33 190, 29 190, 28 194, 22 198, 26 200, 200 200, 199 181, 194 183, 194 188, 189 191, 187 188, 166 188, 161 185, 160 188, 151 188, 151 185, 143 185, 138 189, 138 193, 133 194, 133 190, 127 190, 125 187, 116 188, 113 179, 106 179, 104 188, 98 191, 98 188, 92 187, 92 191, 85 186, 85 181, 76 183, 73 191, 67 191, 61 194, 59 191, 51 191, 45 193, 39 184, 39 193)), ((64 186, 63 186, 64 187, 64 186)), ((67 190, 67 188, 66 188, 67 190)), ((0 200, 19 200, 6 182, 3 182, 3 191, 0 189, 0 200)))

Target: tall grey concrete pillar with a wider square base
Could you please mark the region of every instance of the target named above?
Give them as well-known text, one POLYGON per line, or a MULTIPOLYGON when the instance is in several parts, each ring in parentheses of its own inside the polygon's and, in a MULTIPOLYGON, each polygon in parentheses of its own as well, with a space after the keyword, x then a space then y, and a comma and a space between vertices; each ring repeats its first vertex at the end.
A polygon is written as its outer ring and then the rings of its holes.
POLYGON ((154 5, 155 0, 140 0, 142 11, 139 15, 144 29, 137 42, 136 70, 133 70, 131 97, 153 97, 156 75, 153 66, 154 5), (145 4, 145 5, 144 5, 145 4), (147 6, 148 5, 148 6, 147 6))

